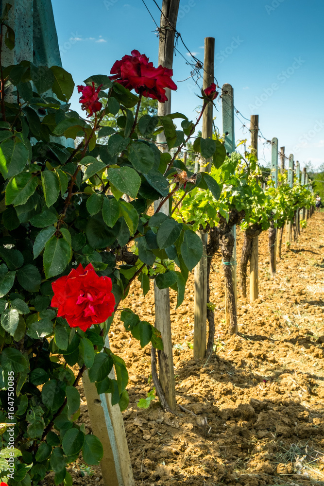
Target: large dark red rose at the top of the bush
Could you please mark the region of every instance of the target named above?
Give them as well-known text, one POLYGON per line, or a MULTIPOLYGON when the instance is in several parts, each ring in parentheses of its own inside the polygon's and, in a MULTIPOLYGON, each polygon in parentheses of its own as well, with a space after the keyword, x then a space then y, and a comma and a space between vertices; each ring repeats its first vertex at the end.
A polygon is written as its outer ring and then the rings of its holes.
POLYGON ((142 93, 145 98, 158 100, 160 103, 168 101, 165 88, 177 89, 172 81, 172 69, 153 67, 153 62, 145 54, 132 51, 132 55, 125 55, 120 61, 116 61, 110 71, 114 76, 111 80, 120 83, 127 89, 135 89, 136 93, 142 93))

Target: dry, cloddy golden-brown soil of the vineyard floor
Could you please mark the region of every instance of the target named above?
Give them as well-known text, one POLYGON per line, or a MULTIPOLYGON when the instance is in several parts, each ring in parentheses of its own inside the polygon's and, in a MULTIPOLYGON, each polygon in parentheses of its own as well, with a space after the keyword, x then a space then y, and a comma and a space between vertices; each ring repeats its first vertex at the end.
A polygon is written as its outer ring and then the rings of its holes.
MULTIPOLYGON (((238 259, 242 244, 238 230, 238 259)), ((177 415, 153 388, 150 346, 141 349, 116 319, 111 349, 128 367, 130 403, 123 412, 136 486, 324 486, 324 214, 308 220, 298 243, 283 244, 274 278, 268 232, 259 237, 259 298, 238 296, 239 334, 225 327, 221 257, 212 263, 215 353, 193 360, 193 274, 175 311, 171 291, 177 415)), ((153 285, 152 285, 153 287, 153 285)), ((153 288, 137 282, 124 301, 154 324, 153 288)), ((81 421, 91 432, 84 395, 81 421)), ((73 485, 104 485, 99 468, 78 460, 73 485), (83 475, 83 476, 82 476, 83 475)), ((44 481, 51 485, 51 478, 44 481)))

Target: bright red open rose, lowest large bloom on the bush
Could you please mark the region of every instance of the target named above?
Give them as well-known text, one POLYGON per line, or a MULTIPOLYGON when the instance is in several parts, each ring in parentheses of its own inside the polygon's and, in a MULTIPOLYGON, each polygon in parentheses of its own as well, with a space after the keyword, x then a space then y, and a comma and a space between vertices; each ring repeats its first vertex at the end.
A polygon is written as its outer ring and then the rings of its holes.
POLYGON ((58 307, 57 317, 64 317, 71 328, 87 330, 101 324, 114 312, 115 297, 109 277, 99 277, 89 263, 80 264, 52 283, 51 307, 58 307))

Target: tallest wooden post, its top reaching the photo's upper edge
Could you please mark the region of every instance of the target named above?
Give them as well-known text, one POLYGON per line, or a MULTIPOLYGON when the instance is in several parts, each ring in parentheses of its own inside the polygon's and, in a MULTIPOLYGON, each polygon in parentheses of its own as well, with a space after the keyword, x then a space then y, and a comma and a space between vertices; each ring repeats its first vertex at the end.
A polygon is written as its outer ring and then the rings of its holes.
MULTIPOLYGON (((176 20, 178 16, 180 0, 163 0, 162 14, 160 20, 160 37, 159 37, 159 55, 158 65, 172 69, 173 48, 176 20), (170 28, 170 27, 173 28, 170 28)), ((157 114, 159 116, 171 113, 171 89, 166 88, 168 101, 158 103, 157 114)), ((163 133, 156 138, 160 150, 166 150, 166 139, 163 133)), ((154 210, 157 209, 159 201, 154 201, 154 210)), ((164 214, 169 215, 169 202, 164 204, 161 210, 164 214)), ((169 289, 158 289, 154 282, 154 299, 155 299, 155 327, 161 332, 163 341, 163 351, 158 351, 159 363, 159 381, 171 411, 175 411, 175 382, 172 356, 172 336, 171 336, 171 317, 170 317, 170 293, 169 289)))

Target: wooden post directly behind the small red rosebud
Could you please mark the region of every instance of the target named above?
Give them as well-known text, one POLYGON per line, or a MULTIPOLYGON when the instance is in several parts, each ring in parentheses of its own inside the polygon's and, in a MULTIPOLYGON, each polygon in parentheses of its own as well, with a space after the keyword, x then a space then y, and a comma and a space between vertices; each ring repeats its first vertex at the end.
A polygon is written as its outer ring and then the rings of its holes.
MULTIPOLYGON (((210 86, 214 81, 214 37, 205 37, 204 57, 204 83, 203 88, 210 86)), ((203 113, 203 139, 213 138, 213 104, 208 103, 203 113)), ((210 172, 211 158, 202 159, 200 172, 210 172)), ((207 238, 205 231, 198 231, 198 236, 203 243, 202 259, 195 266, 194 284, 194 328, 193 328, 193 357, 194 359, 205 358, 207 339, 207 238)))

